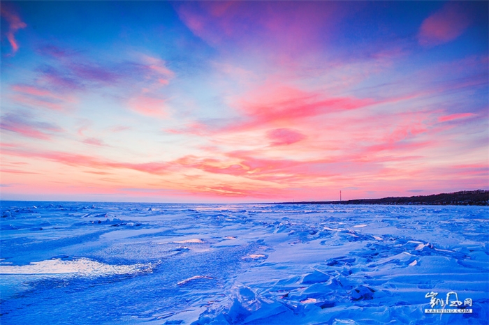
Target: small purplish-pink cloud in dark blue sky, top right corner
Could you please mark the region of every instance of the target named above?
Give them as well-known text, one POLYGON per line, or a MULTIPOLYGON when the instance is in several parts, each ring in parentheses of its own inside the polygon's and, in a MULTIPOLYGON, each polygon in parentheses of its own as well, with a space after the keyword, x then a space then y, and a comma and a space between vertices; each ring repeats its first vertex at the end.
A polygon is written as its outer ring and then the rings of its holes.
POLYGON ((449 1, 423 21, 418 33, 419 43, 421 45, 447 43, 462 35, 470 24, 469 13, 464 6, 449 1))

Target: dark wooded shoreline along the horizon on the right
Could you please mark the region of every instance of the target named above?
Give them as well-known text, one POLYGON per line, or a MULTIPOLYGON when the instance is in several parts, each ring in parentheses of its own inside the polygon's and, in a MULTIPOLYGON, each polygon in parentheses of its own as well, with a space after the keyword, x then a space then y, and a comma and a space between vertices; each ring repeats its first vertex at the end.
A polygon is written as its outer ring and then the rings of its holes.
POLYGON ((426 204, 426 205, 489 205, 489 190, 462 190, 453 193, 381 199, 349 199, 346 201, 281 202, 280 204, 426 204))

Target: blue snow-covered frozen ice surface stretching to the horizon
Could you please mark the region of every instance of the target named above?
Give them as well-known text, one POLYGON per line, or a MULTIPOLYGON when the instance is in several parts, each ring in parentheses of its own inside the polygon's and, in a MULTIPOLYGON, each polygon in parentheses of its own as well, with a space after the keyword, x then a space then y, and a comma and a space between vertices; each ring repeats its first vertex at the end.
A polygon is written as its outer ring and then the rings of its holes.
POLYGON ((0 323, 488 324, 488 212, 3 201, 0 323))

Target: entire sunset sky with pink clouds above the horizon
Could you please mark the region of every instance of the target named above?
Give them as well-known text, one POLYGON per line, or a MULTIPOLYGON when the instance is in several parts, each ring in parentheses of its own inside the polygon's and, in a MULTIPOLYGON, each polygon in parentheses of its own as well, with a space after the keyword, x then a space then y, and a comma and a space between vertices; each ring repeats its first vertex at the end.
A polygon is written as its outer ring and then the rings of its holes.
POLYGON ((488 1, 1 1, 1 199, 489 189, 488 1))

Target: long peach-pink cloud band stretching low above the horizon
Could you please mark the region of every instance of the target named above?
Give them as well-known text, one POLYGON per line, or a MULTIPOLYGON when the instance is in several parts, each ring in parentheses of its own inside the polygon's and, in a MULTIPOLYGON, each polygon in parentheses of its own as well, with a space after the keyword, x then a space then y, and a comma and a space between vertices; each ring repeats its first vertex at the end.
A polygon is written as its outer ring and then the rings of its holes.
MULTIPOLYGON (((423 144, 405 144, 403 151, 411 151, 423 144)), ((400 146, 397 146, 400 148, 400 146)), ((391 149, 391 147, 377 148, 375 151, 391 149)), ((276 197, 295 197, 298 198, 322 198, 328 192, 327 184, 341 183, 342 187, 358 186, 359 188, 383 188, 386 192, 393 192, 404 188, 409 188, 413 184, 419 185, 419 181, 413 183, 413 179, 436 179, 437 172, 433 169, 418 168, 418 164, 413 169, 404 167, 385 167, 381 160, 375 161, 353 161, 344 158, 340 159, 316 159, 316 160, 291 160, 291 159, 271 159, 260 158, 259 152, 255 151, 234 151, 227 153, 220 158, 200 158, 197 156, 186 156, 171 162, 147 162, 130 163, 114 162, 96 158, 92 156, 78 155, 61 152, 38 152, 21 151, 15 147, 6 146, 2 152, 7 156, 25 156, 29 158, 43 158, 64 165, 92 167, 98 170, 89 171, 91 174, 106 175, 110 174, 110 169, 132 169, 155 175, 171 175, 177 172, 182 174, 186 169, 198 169, 211 174, 221 174, 236 176, 240 179, 230 180, 219 177, 212 177, 206 174, 188 176, 188 183, 175 185, 175 189, 189 192, 192 195, 210 195, 214 197, 255 197, 261 199, 273 199, 276 197), (417 168, 417 169, 416 169, 417 168), (402 169, 402 170, 401 170, 402 169), (368 176, 368 177, 366 177, 368 176), (213 179, 209 182, 209 178, 213 179), (264 190, 263 182, 268 182, 264 190), (402 181, 403 186, 399 186, 402 181), (272 184, 276 184, 276 187, 272 184), (300 187, 300 192, 295 192, 291 188, 300 187), (319 190, 321 189, 321 190, 319 190), (289 196, 292 195, 292 196, 289 196)), ((399 156, 393 161, 398 162, 399 156)), ((447 167, 448 168, 448 167, 447 167)), ((457 170, 443 169, 441 174, 458 175, 462 178, 460 183, 469 182, 471 178, 487 176, 485 165, 460 165, 457 170)), ((113 173, 117 175, 117 173, 113 173)), ((123 183, 115 178, 106 179, 111 183, 123 183)), ((430 186, 430 181, 423 183, 430 186)), ((437 184, 439 186, 439 183, 437 184)), ((146 186, 150 186, 147 184, 146 186)), ((412 187, 411 187, 412 188, 412 187)), ((432 188, 432 187, 430 187, 432 188)), ((141 189, 142 191, 145 188, 141 189)), ((349 195, 364 195, 352 188, 349 195), (356 193, 356 194, 353 194, 356 193)), ((284 199, 285 200, 285 199, 284 199)))

